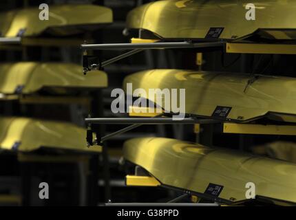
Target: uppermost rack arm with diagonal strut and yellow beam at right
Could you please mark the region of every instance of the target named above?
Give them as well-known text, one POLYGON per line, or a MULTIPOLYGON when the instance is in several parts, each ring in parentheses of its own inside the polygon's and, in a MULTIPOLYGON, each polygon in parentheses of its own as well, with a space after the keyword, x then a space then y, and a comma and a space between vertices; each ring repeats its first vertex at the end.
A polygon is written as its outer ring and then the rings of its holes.
POLYGON ((138 54, 143 50, 155 49, 199 49, 199 52, 204 50, 222 50, 229 54, 296 54, 296 45, 293 38, 282 39, 276 36, 283 36, 286 32, 293 30, 277 30, 277 29, 262 29, 258 28, 255 32, 242 36, 238 39, 199 39, 194 41, 192 39, 180 39, 180 41, 160 41, 156 39, 131 39, 131 43, 107 43, 107 44, 87 44, 81 45, 83 50, 83 72, 92 70, 102 70, 103 67, 120 61, 128 56, 138 54), (262 35, 270 35, 271 39, 263 39, 262 41, 253 41, 262 39, 262 35), (273 36, 273 34, 275 36, 273 36), (264 43, 265 42, 265 43, 264 43), (88 56, 89 50, 130 50, 111 58, 107 61, 101 61, 99 56, 88 56), (98 60, 97 63, 91 63, 98 60))

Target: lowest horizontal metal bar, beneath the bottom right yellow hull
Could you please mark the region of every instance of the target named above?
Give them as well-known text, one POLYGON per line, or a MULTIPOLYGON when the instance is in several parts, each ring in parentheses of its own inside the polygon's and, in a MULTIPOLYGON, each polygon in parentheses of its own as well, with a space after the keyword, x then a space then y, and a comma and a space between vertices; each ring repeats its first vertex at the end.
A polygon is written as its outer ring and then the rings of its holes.
POLYGON ((219 206, 218 203, 105 203, 105 206, 219 206))

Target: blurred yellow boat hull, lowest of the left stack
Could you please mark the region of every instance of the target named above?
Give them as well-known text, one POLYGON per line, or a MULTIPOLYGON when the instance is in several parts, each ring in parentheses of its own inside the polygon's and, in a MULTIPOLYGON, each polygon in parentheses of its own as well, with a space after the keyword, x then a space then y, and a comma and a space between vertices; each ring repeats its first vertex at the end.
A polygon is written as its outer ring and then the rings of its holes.
POLYGON ((87 148, 86 129, 67 122, 31 118, 0 118, 0 148, 21 152, 39 148, 101 152, 100 146, 87 148))

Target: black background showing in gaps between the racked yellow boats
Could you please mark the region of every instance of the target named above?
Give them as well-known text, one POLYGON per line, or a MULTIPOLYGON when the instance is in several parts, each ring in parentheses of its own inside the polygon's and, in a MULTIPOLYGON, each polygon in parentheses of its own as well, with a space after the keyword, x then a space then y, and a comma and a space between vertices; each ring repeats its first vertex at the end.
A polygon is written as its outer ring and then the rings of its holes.
MULTIPOLYGON (((128 43, 130 36, 124 36, 125 19, 127 13, 138 5, 149 1, 140 0, 106 0, 106 1, 0 1, 0 10, 5 12, 14 8, 38 6, 40 3, 49 5, 57 3, 94 3, 112 8, 114 23, 103 30, 94 32, 96 43, 128 43)), ((117 56, 120 52, 104 52, 104 59, 117 56)), ((110 93, 114 88, 122 87, 123 78, 128 74, 144 69, 198 69, 195 64, 196 52, 193 50, 146 50, 136 56, 130 56, 122 61, 105 67, 109 77, 109 87, 102 91, 93 91, 92 115, 98 115, 99 106, 103 106, 104 117, 126 117, 114 115, 110 111, 112 98, 110 93), (101 97, 103 96, 103 99, 101 97)), ((253 55, 253 54, 224 54, 223 52, 204 52, 202 70, 237 72, 249 74, 269 74, 279 76, 294 76, 295 56, 293 55, 253 55)), ((61 61, 81 64, 81 50, 79 47, 24 47, 22 50, 0 50, 0 62, 18 61, 61 61)), ((81 67, 82 68, 82 67, 81 67)), ((0 73, 1 74, 1 73, 0 73)), ((81 72, 81 74, 83 74, 81 72)), ((72 104, 42 106, 25 105, 19 102, 0 102, 1 115, 17 115, 32 118, 70 121, 85 126, 83 118, 88 114, 83 107, 72 104)), ((108 125, 106 133, 117 131, 124 126, 108 125)), ((251 147, 285 140, 295 142, 295 137, 270 135, 230 135, 220 132, 219 127, 204 126, 200 133, 200 142, 208 146, 223 146, 240 151, 251 151, 251 147)), ((107 153, 91 160, 91 173, 84 191, 81 183, 81 171, 78 162, 73 164, 19 164, 14 154, 0 155, 0 195, 17 193, 25 195, 23 205, 67 206, 67 205, 98 205, 111 199, 113 202, 136 201, 168 201, 178 194, 160 188, 129 188, 125 186, 126 166, 119 164, 123 142, 131 137, 160 136, 174 137, 181 140, 195 141, 193 126, 190 125, 157 125, 141 126, 114 137, 106 142, 107 153), (108 157, 107 157, 108 156, 108 157), (108 161, 108 163, 107 163, 108 161), (107 168, 106 168, 106 165, 107 168), (109 171, 109 172, 108 172, 109 171), (25 174, 24 174, 25 173, 25 174), (109 174, 108 174, 109 173, 109 174), (25 177, 23 176, 25 175, 25 177), (30 176, 30 181, 23 183, 22 178, 30 176), (105 182, 109 182, 105 187, 105 182), (50 181, 50 199, 38 199, 38 183, 50 181), (28 188, 32 190, 28 191, 28 188), (82 193, 82 195, 81 195, 82 193), (78 196, 79 195, 79 196, 78 196)))

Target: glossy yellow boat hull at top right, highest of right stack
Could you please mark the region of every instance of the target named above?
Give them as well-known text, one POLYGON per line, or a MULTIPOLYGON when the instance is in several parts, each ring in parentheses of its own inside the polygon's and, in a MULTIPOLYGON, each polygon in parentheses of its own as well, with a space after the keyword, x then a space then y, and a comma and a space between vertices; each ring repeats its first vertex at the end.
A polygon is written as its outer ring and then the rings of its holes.
MULTIPOLYGON (((296 1, 165 0, 129 12, 127 28, 154 32, 163 39, 204 39, 210 28, 224 28, 219 39, 237 39, 264 29, 295 29, 296 1), (246 5, 255 5, 255 21, 246 20, 246 5)), ((273 32, 273 31, 271 31, 273 32)), ((295 30, 271 33, 296 39, 295 30)))

